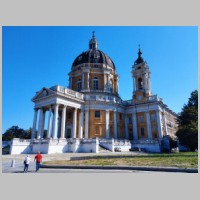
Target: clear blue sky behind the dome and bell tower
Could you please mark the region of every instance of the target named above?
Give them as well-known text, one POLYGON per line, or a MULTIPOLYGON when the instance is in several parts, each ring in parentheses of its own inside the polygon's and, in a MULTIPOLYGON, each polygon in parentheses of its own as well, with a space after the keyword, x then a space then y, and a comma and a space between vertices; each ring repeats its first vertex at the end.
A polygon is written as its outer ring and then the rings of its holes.
POLYGON ((31 98, 42 87, 68 86, 74 59, 95 31, 99 49, 114 61, 123 100, 132 96, 131 67, 138 45, 151 71, 151 90, 174 112, 198 88, 198 28, 194 26, 4 26, 2 133, 33 122, 31 98))

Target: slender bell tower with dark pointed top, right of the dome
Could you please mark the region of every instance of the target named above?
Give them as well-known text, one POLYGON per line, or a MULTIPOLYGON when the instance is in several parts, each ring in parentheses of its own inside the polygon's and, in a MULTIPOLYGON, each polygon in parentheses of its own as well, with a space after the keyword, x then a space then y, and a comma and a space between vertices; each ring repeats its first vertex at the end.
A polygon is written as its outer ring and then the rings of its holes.
POLYGON ((150 71, 146 61, 142 58, 139 48, 138 58, 132 66, 133 77, 133 100, 136 102, 145 101, 151 96, 150 71))

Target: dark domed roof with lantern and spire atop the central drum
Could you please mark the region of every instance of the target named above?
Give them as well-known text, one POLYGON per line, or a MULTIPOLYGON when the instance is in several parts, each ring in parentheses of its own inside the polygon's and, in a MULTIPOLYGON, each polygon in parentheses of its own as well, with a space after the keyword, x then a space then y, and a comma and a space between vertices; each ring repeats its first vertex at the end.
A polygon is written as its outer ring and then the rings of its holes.
POLYGON ((105 64, 115 70, 115 64, 112 59, 98 49, 98 42, 94 36, 94 33, 89 42, 89 50, 77 56, 72 64, 72 68, 84 63, 105 64))

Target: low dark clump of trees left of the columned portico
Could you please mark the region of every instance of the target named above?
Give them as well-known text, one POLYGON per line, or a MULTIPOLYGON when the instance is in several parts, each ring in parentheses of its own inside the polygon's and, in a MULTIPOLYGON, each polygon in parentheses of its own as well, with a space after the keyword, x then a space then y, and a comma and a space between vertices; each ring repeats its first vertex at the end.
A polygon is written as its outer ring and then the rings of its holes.
POLYGON ((13 138, 30 139, 31 129, 24 130, 22 128, 19 128, 18 126, 12 126, 3 134, 2 140, 9 141, 13 138))

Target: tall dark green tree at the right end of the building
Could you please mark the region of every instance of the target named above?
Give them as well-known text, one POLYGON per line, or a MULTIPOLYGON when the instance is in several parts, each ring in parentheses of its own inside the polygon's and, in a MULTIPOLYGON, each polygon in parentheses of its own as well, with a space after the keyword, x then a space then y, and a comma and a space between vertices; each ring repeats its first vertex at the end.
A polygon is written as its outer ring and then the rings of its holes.
POLYGON ((198 91, 195 90, 178 116, 179 142, 191 151, 198 149, 198 91))

